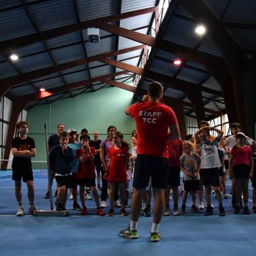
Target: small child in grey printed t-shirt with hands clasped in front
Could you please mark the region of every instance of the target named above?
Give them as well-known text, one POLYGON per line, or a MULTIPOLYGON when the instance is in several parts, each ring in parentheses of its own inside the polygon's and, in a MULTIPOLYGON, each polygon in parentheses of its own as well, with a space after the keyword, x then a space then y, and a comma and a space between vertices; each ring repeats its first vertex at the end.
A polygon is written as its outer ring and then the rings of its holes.
POLYGON ((185 154, 181 156, 181 170, 184 173, 184 194, 183 194, 183 205, 181 211, 186 210, 187 194, 192 191, 192 206, 191 211, 198 212, 195 204, 196 192, 200 189, 200 176, 199 170, 201 168, 201 158, 199 154, 193 152, 193 146, 190 141, 184 141, 183 148, 185 154))

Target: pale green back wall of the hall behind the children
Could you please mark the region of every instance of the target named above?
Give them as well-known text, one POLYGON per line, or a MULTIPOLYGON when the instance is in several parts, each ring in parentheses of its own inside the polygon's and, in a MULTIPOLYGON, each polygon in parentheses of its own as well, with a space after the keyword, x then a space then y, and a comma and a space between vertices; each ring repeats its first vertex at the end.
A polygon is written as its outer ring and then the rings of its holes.
MULTIPOLYGON (((102 88, 75 98, 35 106, 28 111, 27 116, 30 136, 36 141, 36 158, 33 160, 46 160, 44 123, 49 129, 49 135, 56 132, 59 123, 64 123, 66 130, 73 128, 81 131, 86 128, 89 133, 98 130, 100 139, 106 137, 109 125, 115 125, 125 134, 125 140, 130 142, 135 122, 125 115, 124 110, 133 103, 132 100, 131 92, 119 88, 102 88)), ((46 168, 46 164, 34 163, 33 168, 46 168)))

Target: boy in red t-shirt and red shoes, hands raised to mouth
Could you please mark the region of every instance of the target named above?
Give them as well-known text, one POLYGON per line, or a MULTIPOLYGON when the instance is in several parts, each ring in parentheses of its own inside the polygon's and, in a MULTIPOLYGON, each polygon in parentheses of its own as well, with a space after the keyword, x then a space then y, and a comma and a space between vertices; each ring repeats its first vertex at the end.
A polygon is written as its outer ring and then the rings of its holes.
POLYGON ((87 214, 86 200, 84 197, 84 191, 86 187, 90 187, 92 195, 94 196, 94 201, 97 207, 97 214, 104 216, 104 212, 100 209, 100 201, 98 199, 98 193, 95 183, 95 166, 94 166, 94 156, 96 156, 96 151, 94 147, 90 147, 90 136, 83 133, 80 136, 80 141, 82 143, 82 148, 79 148, 76 152, 77 158, 79 158, 79 164, 76 172, 76 179, 79 185, 80 200, 83 205, 83 210, 81 215, 87 214))

